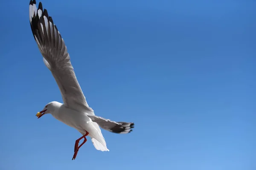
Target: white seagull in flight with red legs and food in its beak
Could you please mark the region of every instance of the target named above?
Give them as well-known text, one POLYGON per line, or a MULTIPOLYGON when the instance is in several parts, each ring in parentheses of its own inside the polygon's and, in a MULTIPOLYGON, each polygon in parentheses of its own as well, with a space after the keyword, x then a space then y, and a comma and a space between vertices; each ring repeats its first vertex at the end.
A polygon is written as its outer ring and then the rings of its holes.
POLYGON ((53 23, 52 17, 48 15, 46 9, 43 10, 41 2, 37 8, 36 1, 30 0, 29 21, 44 64, 55 78, 63 99, 63 103, 49 102, 36 116, 39 119, 50 113, 55 119, 75 128, 82 134, 75 142, 72 160, 76 159, 79 148, 87 141, 86 136, 90 136, 96 150, 109 151, 100 127, 113 133, 126 134, 132 131, 134 123, 115 122, 95 115, 93 109, 87 104, 76 79, 65 42, 53 23), (81 139, 84 141, 79 145, 81 139))

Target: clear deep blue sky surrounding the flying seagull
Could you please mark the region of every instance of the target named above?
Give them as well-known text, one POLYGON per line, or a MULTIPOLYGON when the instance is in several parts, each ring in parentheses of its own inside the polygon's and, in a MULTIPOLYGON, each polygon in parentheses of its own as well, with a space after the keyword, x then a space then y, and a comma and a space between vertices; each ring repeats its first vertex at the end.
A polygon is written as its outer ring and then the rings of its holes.
MULTIPOLYGON (((39 1, 37 1, 39 3, 39 1)), ((29 0, 0 1, 1 170, 255 170, 256 2, 43 0, 110 152, 51 115, 62 102, 29 25, 29 0)))

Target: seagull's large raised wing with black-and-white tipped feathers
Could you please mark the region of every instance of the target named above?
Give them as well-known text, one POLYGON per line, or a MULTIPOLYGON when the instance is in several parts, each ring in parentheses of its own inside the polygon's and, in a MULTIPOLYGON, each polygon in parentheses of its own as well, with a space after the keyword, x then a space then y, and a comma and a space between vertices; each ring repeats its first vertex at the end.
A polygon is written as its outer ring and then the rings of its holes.
POLYGON ((52 17, 48 16, 46 9, 43 10, 41 2, 37 8, 35 0, 30 0, 29 21, 35 41, 44 57, 44 64, 58 84, 64 105, 94 115, 76 79, 65 42, 52 17))

